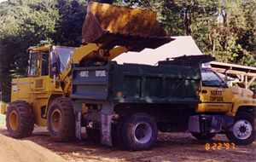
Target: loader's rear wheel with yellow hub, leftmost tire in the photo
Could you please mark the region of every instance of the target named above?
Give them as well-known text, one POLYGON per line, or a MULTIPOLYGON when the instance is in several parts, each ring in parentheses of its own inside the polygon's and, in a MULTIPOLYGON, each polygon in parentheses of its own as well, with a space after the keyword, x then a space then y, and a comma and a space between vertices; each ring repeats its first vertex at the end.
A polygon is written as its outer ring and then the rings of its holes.
POLYGON ((14 138, 32 136, 34 117, 32 107, 26 101, 13 101, 6 113, 6 127, 14 138))

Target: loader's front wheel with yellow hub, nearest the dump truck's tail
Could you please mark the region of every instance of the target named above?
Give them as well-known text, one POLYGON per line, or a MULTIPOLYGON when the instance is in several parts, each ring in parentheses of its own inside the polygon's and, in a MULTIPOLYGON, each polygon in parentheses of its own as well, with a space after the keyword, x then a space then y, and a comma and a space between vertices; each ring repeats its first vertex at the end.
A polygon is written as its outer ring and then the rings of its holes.
POLYGON ((69 98, 56 98, 49 105, 47 128, 55 142, 70 142, 75 138, 75 115, 73 101, 69 98))

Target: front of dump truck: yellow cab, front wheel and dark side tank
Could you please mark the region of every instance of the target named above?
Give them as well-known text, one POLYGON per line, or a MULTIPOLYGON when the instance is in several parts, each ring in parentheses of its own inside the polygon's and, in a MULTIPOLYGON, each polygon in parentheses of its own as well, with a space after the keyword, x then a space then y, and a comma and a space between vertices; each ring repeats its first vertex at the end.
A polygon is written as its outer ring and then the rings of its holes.
POLYGON ((223 132, 231 142, 249 144, 256 138, 255 95, 226 83, 218 72, 201 69, 201 103, 195 110, 198 115, 189 118, 189 130, 198 139, 210 139, 223 132))

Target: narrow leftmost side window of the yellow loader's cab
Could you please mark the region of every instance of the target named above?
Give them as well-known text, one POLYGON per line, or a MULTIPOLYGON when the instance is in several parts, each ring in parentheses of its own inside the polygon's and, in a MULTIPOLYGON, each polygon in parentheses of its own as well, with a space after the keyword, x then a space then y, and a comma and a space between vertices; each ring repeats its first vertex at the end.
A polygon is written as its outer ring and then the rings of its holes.
POLYGON ((30 59, 29 59, 29 69, 28 69, 28 76, 35 77, 38 76, 38 64, 39 64, 39 52, 31 52, 30 59))

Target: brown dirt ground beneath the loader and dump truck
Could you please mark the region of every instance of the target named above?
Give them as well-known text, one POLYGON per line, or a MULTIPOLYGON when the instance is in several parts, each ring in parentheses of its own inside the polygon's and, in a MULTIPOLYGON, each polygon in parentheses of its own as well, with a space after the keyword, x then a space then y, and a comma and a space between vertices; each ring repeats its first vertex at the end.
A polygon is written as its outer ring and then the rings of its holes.
MULTIPOLYGON (((83 130, 83 132, 81 142, 61 143, 54 142, 45 127, 36 126, 33 135, 24 140, 34 142, 43 148, 47 148, 70 162, 256 161, 256 142, 247 146, 235 146, 234 148, 224 135, 215 136, 211 141, 208 141, 209 145, 206 145, 207 142, 199 142, 189 133, 159 133, 154 148, 149 151, 131 152, 118 147, 94 144, 87 138, 85 130, 83 130)), ((3 124, 0 125, 0 134, 9 136, 3 124)), ((0 146, 0 148, 1 147, 3 146, 0 146)), ((20 153, 25 152, 25 149, 26 148, 20 150, 20 153)))

